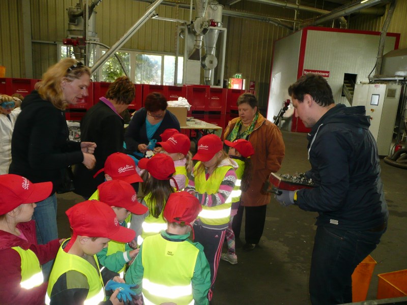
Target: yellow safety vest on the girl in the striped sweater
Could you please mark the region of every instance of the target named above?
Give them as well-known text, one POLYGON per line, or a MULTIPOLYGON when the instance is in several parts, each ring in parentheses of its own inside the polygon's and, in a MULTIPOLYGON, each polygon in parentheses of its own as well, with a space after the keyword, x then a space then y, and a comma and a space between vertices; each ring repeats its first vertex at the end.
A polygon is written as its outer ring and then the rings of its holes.
MULTIPOLYGON (((198 168, 200 161, 196 163, 194 170, 198 168)), ((207 193, 212 195, 218 193, 220 184, 222 183, 226 173, 232 167, 230 165, 217 167, 213 173, 209 176, 207 180, 205 177, 205 172, 198 176, 195 176, 195 190, 196 192, 203 194, 207 193)), ((203 224, 212 226, 212 227, 224 227, 229 222, 230 219, 230 206, 231 206, 231 196, 229 196, 225 203, 215 205, 215 206, 206 206, 202 205, 202 211, 199 213, 199 219, 203 224)))

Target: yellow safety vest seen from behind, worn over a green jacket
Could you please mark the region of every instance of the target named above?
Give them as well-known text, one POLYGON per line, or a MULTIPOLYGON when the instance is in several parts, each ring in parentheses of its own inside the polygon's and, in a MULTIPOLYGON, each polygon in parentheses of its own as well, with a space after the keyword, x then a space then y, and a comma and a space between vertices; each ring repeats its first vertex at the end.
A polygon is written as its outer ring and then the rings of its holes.
POLYGON ((169 241, 161 234, 146 238, 141 252, 144 304, 193 304, 192 284, 199 250, 189 241, 169 241))

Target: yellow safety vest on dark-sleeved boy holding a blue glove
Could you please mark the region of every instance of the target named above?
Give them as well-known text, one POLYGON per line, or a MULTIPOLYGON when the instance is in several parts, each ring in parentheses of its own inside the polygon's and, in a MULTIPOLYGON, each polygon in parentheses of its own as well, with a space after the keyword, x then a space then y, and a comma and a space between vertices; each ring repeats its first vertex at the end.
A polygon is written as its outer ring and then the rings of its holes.
MULTIPOLYGON (((70 240, 67 239, 64 241, 66 244, 70 240)), ((93 256, 96 265, 99 269, 99 263, 96 255, 93 256)), ((103 280, 100 272, 95 269, 95 267, 85 259, 66 253, 62 245, 58 250, 58 253, 55 258, 54 266, 52 267, 51 275, 49 276, 47 294, 45 296, 45 303, 50 303, 50 295, 52 292, 52 288, 55 285, 56 281, 66 272, 75 270, 82 273, 87 279, 89 283, 89 292, 88 296, 86 296, 85 301, 83 302, 84 305, 94 305, 98 304, 99 302, 103 301, 105 298, 105 291, 103 287, 103 280)))

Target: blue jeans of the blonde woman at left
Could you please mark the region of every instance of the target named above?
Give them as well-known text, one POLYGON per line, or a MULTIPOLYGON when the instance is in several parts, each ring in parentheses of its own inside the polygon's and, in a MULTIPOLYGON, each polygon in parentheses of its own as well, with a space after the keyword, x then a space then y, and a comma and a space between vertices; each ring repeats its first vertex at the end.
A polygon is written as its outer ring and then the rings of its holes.
MULTIPOLYGON (((37 231, 37 242, 39 245, 45 245, 48 241, 58 238, 58 228, 56 226, 56 195, 37 202, 34 208, 33 220, 35 220, 37 231)), ((42 265, 44 280, 48 281, 49 273, 53 260, 42 265)))

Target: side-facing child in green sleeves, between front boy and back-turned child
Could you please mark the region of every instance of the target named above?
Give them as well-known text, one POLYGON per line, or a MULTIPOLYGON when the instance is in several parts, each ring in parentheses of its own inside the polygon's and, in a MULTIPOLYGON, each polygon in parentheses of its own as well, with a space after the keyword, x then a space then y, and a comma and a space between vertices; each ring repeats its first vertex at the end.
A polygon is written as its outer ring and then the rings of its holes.
MULTIPOLYGON (((148 208, 137 201, 133 187, 122 180, 110 180, 98 186, 100 201, 110 205, 115 212, 119 224, 127 228, 125 219, 131 214, 144 214, 148 208)), ((132 250, 127 243, 110 240, 107 247, 96 256, 99 263, 107 269, 124 276, 125 265, 134 259, 138 249, 132 250)), ((101 270, 103 270, 103 268, 101 270)))

